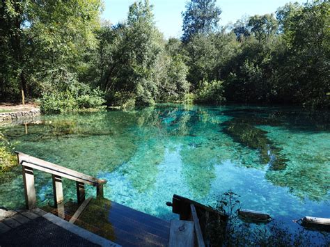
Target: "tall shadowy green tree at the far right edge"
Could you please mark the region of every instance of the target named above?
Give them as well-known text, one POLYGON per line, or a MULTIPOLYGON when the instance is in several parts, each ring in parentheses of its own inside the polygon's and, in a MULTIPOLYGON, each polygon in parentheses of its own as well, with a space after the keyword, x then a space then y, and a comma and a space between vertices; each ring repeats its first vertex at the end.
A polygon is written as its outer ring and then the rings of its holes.
MULTIPOLYGON (((304 8, 286 6, 278 11, 288 47, 292 100, 324 108, 330 106, 330 3, 313 1, 304 8)), ((282 81, 282 80, 281 80, 282 81)))

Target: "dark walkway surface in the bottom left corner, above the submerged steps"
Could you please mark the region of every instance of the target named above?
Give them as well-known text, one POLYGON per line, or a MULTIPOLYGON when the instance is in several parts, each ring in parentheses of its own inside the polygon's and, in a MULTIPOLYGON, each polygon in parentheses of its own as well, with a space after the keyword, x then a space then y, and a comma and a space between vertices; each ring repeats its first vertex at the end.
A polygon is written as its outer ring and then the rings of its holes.
POLYGON ((41 209, 0 222, 0 246, 118 246, 41 209))

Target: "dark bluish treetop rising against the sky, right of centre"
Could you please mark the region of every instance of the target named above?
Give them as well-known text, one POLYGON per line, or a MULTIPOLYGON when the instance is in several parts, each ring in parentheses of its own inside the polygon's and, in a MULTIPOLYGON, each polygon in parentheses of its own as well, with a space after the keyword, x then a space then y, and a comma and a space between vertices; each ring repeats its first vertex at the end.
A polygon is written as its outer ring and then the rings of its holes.
POLYGON ((221 9, 216 0, 191 0, 182 13, 182 40, 187 42, 197 33, 207 34, 215 31, 220 20, 221 9))

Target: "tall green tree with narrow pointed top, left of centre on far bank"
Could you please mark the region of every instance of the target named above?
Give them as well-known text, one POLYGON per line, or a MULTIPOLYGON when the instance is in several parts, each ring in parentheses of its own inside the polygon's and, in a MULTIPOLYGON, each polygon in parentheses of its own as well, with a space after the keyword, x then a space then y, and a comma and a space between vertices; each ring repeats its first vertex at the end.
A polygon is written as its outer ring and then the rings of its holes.
POLYGON ((162 35, 155 27, 149 1, 129 6, 127 22, 104 27, 99 35, 100 78, 110 104, 153 104, 157 84, 152 71, 161 52, 162 35))

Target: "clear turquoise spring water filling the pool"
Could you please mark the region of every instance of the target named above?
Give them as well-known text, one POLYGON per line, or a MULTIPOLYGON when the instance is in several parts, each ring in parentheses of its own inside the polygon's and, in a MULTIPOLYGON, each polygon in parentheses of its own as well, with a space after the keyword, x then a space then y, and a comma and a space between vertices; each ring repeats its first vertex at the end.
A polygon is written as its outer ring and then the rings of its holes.
MULTIPOLYGON (((228 190, 241 196, 243 208, 268 212, 290 228, 297 226, 292 219, 303 216, 330 218, 329 113, 159 104, 42 116, 27 124, 27 134, 24 125, 1 131, 16 150, 106 179, 106 198, 160 218, 175 217, 165 204, 174 193, 214 206, 228 190), (225 128, 237 119, 265 131, 278 157, 285 157, 285 169, 272 170, 260 149, 234 141, 225 128)), ((1 206, 24 207, 19 173, 17 168, 13 180, 0 184, 1 206)), ((50 176, 36 177, 39 205, 52 204, 50 176)), ((65 180, 64 187, 66 200, 75 200, 74 183, 65 180)))

